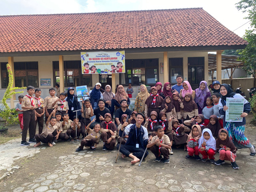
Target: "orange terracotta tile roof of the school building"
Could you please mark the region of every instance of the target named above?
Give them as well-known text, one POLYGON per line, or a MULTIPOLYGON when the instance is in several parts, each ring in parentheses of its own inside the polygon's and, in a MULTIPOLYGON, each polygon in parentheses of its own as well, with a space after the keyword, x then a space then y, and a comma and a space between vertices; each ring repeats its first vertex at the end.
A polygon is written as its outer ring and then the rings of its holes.
POLYGON ((0 52, 245 44, 202 8, 0 16, 0 52))

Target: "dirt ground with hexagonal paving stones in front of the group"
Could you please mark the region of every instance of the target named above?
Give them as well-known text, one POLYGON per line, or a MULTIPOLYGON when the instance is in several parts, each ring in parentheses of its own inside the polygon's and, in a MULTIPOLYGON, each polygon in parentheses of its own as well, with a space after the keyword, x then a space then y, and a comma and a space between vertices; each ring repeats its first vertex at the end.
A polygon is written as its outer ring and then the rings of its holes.
MULTIPOLYGON (((247 122, 251 118, 250 114, 247 122)), ((246 124, 246 136, 256 144, 255 126, 246 124)), ((21 168, 0 181, 0 191, 256 191, 256 157, 249 156, 248 149, 238 150, 236 162, 240 169, 234 170, 227 161, 216 166, 209 161, 186 160, 187 152, 181 148, 173 148, 170 164, 155 162, 149 151, 139 167, 121 156, 115 163, 117 150, 102 151, 102 142, 93 152, 75 152, 79 144, 41 145, 39 153, 14 163, 21 168)), ((218 157, 216 154, 216 160, 218 157)), ((4 172, 0 171, 0 176, 4 172)))

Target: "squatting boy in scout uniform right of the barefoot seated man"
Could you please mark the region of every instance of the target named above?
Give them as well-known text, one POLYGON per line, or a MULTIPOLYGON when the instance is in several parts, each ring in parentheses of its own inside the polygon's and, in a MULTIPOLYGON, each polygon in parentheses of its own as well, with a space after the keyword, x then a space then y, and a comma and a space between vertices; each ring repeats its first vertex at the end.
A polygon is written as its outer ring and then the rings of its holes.
POLYGON ((156 156, 155 161, 160 162, 162 156, 164 156, 164 163, 169 163, 169 155, 172 149, 170 139, 164 134, 164 129, 161 125, 155 126, 154 131, 157 135, 148 142, 147 148, 156 156))

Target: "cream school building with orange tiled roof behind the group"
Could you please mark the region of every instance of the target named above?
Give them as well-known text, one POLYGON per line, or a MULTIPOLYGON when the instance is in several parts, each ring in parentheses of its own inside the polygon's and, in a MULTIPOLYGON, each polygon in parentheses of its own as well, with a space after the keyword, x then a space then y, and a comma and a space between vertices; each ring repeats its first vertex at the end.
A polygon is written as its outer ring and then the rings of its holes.
MULTIPOLYGON (((181 74, 192 88, 208 81, 208 52, 216 54, 221 82, 221 52, 248 44, 202 8, 0 16, 0 96, 8 85, 6 64, 17 87, 48 89, 60 84, 94 87, 116 84, 176 84, 181 74), (125 50, 125 73, 82 74, 80 52, 125 50)), ((25 93, 24 93, 25 94, 25 93)), ((0 98, 2 99, 2 98, 0 98)), ((10 106, 18 95, 11 98, 10 106)))

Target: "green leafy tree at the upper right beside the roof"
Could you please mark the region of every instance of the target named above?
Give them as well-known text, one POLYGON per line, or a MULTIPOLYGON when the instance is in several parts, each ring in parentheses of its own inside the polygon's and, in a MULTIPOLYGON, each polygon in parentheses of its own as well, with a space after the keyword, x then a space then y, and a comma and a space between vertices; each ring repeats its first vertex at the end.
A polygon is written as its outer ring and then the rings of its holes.
POLYGON ((251 30, 246 30, 244 39, 248 41, 245 49, 239 50, 239 60, 244 62, 243 70, 253 75, 254 87, 256 86, 256 0, 241 0, 236 4, 238 10, 247 13, 245 19, 250 20, 251 30))

